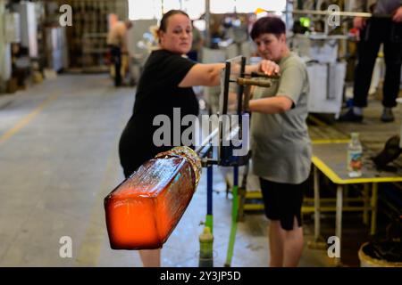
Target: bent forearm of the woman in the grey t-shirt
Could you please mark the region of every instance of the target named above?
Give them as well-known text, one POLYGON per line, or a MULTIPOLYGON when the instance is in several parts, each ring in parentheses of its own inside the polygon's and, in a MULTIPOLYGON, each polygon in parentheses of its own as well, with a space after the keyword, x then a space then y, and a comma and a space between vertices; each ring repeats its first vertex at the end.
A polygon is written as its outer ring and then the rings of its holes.
POLYGON ((276 95, 274 97, 250 100, 249 110, 263 114, 277 114, 290 110, 293 101, 285 95, 276 95))

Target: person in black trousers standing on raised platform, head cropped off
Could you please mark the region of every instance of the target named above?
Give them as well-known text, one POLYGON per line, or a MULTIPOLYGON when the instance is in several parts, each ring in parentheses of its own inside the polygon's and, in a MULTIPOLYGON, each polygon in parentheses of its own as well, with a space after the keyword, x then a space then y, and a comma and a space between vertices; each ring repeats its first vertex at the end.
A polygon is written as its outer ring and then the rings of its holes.
POLYGON ((353 107, 341 115, 339 121, 361 122, 363 108, 367 106, 367 95, 380 45, 383 44, 385 79, 382 90, 381 121, 394 120, 392 108, 397 105, 402 63, 402 0, 356 0, 355 12, 373 12, 373 18, 354 19, 360 30, 357 46, 358 61, 355 69, 353 107), (375 17, 376 15, 381 17, 375 17), (384 15, 390 18, 383 17, 384 15))

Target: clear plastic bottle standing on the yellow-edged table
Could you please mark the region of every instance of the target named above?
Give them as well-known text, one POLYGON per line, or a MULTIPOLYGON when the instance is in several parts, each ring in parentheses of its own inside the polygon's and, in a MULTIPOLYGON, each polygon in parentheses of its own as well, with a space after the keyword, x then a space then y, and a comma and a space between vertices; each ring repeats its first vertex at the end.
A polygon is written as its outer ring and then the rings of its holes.
POLYGON ((352 133, 352 139, 348 145, 348 175, 351 178, 360 177, 363 167, 363 148, 359 141, 359 134, 352 133))

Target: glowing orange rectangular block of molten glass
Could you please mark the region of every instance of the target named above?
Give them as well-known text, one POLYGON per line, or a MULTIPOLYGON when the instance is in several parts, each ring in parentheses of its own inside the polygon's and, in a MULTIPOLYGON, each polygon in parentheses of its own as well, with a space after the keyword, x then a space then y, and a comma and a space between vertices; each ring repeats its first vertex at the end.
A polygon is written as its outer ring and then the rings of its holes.
POLYGON ((145 162, 105 198, 113 249, 162 248, 196 191, 201 161, 176 147, 145 162))

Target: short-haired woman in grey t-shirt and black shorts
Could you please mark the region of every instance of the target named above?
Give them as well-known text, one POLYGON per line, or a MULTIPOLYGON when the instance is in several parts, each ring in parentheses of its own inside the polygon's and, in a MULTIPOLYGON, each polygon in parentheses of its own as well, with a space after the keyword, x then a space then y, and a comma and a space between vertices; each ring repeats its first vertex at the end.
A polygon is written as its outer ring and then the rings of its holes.
POLYGON ((253 171, 259 176, 270 223, 270 266, 297 266, 303 249, 301 207, 311 166, 306 118, 306 65, 289 51, 285 23, 257 20, 250 33, 260 56, 278 64, 281 77, 269 88, 255 87, 249 102, 253 171))

